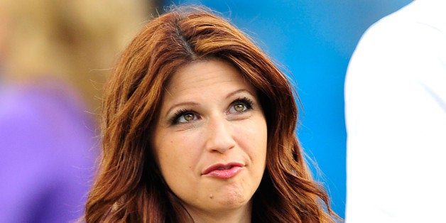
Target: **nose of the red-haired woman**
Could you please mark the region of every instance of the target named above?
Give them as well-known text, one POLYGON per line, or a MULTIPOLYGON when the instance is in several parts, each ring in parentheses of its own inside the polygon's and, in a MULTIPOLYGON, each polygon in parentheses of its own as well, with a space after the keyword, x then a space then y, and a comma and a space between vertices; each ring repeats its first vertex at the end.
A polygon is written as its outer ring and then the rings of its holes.
POLYGON ((222 117, 209 120, 206 129, 206 148, 208 151, 224 153, 235 146, 230 121, 222 117))

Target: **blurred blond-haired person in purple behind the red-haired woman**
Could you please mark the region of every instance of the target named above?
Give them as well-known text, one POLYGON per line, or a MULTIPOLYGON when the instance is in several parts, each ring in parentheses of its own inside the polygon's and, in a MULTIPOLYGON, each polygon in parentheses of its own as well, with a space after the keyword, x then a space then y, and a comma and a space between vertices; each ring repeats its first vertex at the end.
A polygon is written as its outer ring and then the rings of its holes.
POLYGON ((101 84, 153 6, 0 2, 0 222, 71 222, 97 157, 101 84))

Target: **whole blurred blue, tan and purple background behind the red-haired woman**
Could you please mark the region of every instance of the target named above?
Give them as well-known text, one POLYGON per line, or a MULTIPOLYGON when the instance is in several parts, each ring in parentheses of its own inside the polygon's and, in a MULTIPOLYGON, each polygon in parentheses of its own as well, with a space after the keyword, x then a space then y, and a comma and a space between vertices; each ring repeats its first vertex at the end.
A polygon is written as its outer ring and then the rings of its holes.
POLYGON ((82 215, 114 60, 165 6, 203 4, 290 75, 298 136, 344 217, 344 75, 362 33, 410 0, 0 0, 0 222, 82 215))

